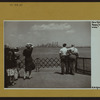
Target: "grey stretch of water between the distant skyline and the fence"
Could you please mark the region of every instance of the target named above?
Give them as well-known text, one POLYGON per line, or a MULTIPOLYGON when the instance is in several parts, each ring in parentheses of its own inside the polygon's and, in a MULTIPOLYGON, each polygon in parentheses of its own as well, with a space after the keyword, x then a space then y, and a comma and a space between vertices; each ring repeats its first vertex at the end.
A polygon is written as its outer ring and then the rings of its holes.
MULTIPOLYGON (((60 48, 34 48, 33 58, 54 58, 59 57, 60 48)), ((80 57, 91 58, 91 48, 78 48, 80 57)))

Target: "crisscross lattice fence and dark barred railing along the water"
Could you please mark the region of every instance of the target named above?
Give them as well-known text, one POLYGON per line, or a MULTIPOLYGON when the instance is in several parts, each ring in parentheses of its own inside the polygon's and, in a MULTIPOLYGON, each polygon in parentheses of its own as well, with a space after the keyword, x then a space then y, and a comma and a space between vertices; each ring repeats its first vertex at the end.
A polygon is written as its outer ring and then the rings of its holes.
MULTIPOLYGON (((35 58, 33 61, 37 71, 39 71, 40 68, 53 68, 61 66, 60 58, 35 58)), ((77 58, 75 71, 81 74, 91 74, 91 58, 77 58)))

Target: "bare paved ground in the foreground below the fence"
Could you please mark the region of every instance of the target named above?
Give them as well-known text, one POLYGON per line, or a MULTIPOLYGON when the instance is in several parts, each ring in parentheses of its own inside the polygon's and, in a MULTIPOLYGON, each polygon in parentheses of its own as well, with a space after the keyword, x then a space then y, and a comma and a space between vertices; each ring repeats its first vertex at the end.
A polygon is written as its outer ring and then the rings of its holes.
POLYGON ((60 68, 41 68, 39 72, 32 71, 32 78, 23 80, 24 71, 21 71, 21 78, 14 86, 9 88, 90 88, 91 76, 75 73, 60 74, 60 68))

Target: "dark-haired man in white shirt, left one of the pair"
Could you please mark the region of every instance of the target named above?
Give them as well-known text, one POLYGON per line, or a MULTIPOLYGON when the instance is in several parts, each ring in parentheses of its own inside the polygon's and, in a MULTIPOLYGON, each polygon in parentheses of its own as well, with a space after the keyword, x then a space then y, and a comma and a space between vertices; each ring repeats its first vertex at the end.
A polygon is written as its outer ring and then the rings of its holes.
POLYGON ((68 73, 68 63, 67 63, 67 51, 68 49, 66 48, 66 43, 63 44, 63 48, 60 49, 59 51, 59 56, 61 59, 61 74, 64 74, 64 67, 66 67, 66 74, 68 73))

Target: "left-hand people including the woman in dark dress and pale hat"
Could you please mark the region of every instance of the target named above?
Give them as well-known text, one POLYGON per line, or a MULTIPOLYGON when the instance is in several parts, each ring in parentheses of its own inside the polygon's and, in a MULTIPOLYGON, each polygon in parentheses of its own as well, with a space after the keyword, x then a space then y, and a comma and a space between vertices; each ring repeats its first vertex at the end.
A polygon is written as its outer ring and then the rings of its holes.
POLYGON ((16 80, 20 78, 21 68, 24 68, 24 79, 32 78, 31 71, 35 69, 35 64, 31 57, 33 46, 27 43, 26 48, 23 50, 24 61, 20 59, 19 48, 11 48, 5 45, 5 87, 15 85, 16 80), (24 63, 25 66, 21 66, 24 63))

